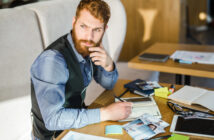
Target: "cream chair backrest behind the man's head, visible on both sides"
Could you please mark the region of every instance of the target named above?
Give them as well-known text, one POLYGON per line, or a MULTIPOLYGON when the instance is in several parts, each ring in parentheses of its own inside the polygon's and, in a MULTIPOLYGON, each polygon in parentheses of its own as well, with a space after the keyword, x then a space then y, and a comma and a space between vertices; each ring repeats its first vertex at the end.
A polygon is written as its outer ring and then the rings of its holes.
MULTIPOLYGON (((105 1, 111 8, 111 18, 102 42, 110 56, 117 61, 126 34, 126 13, 120 0, 105 1)), ((79 2, 80 0, 52 0, 25 6, 38 16, 45 47, 69 33, 79 2)))

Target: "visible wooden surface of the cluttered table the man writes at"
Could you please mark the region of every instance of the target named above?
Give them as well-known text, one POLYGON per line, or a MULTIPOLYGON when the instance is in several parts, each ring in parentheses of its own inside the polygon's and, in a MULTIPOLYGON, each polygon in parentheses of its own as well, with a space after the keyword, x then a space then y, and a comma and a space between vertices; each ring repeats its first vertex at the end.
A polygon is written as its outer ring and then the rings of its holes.
MULTIPOLYGON (((106 105, 109 105, 111 103, 114 102, 114 97, 113 94, 116 94, 117 96, 120 95, 123 91, 125 91, 123 85, 125 83, 128 83, 129 80, 118 80, 118 82, 115 85, 115 88, 113 90, 108 90, 108 91, 104 91, 90 106, 89 108, 99 108, 99 107, 103 107, 106 105)), ((160 84, 162 86, 169 86, 169 84, 160 84)), ((181 85, 177 85, 176 89, 180 89, 182 86, 181 85)), ((140 97, 138 95, 135 94, 131 94, 131 93, 126 93, 123 97, 140 97)), ((172 121, 172 117, 173 117, 173 112, 167 107, 167 100, 164 98, 160 98, 160 97, 154 97, 160 112, 162 114, 162 119, 166 122, 168 122, 169 124, 171 124, 172 121)), ((72 131, 76 131, 76 132, 80 132, 80 133, 85 133, 85 134, 90 134, 90 135, 96 135, 96 136, 102 136, 102 137, 109 137, 109 138, 115 138, 115 139, 122 139, 122 140, 129 140, 132 139, 128 133, 126 133, 123 130, 123 135, 105 135, 105 126, 106 125, 122 125, 125 124, 127 122, 115 122, 115 121, 105 121, 105 122, 101 122, 101 123, 97 123, 97 124, 92 124, 92 125, 88 125, 85 126, 83 128, 80 129, 70 129, 72 131)), ((159 134, 158 136, 163 136, 163 135, 167 135, 167 134, 171 134, 169 132, 169 128, 167 127, 166 133, 164 134, 159 134)), ((60 140, 66 133, 68 133, 69 130, 64 130, 58 137, 56 140, 60 140)), ((207 139, 205 137, 195 137, 195 136, 191 136, 191 139, 194 140, 198 140, 198 139, 207 139)))

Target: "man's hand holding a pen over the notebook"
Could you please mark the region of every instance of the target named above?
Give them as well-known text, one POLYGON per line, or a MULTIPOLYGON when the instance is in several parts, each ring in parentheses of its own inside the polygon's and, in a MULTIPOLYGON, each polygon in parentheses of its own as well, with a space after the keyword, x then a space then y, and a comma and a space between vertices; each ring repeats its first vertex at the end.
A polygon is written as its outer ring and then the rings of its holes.
POLYGON ((100 109, 101 121, 126 119, 132 112, 132 103, 116 102, 100 109))

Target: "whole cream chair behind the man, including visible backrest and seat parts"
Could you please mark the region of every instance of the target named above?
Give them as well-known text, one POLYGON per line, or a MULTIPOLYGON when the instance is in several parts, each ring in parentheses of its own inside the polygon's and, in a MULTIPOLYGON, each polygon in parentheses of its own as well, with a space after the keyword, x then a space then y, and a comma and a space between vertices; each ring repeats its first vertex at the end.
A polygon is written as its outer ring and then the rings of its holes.
MULTIPOLYGON (((79 1, 63 0, 62 2, 62 0, 52 0, 27 5, 27 8, 35 11, 38 16, 45 47, 72 29, 72 18, 75 16, 79 1)), ((111 18, 102 43, 109 55, 117 63, 119 78, 130 80, 142 78, 148 80, 151 75, 154 75, 153 73, 129 69, 127 62, 117 62, 126 35, 126 13, 120 0, 105 1, 110 6, 111 18)), ((103 91, 104 88, 93 80, 86 91, 86 105, 91 104, 103 91)))

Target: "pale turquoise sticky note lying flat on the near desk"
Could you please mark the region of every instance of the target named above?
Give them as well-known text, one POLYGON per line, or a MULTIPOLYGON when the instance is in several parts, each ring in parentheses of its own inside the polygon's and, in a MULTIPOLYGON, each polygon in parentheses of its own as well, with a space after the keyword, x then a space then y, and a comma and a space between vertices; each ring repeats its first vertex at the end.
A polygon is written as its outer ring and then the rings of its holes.
POLYGON ((105 134, 123 134, 121 125, 107 125, 105 128, 105 134))

